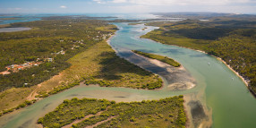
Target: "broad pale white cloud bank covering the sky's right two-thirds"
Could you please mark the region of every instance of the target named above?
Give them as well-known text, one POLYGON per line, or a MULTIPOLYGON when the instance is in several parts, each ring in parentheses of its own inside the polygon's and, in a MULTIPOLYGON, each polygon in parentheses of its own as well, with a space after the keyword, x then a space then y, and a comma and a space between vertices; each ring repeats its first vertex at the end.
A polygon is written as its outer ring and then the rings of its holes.
POLYGON ((91 0, 113 12, 255 13, 256 0, 91 0), (111 7, 109 7, 109 5, 111 7))

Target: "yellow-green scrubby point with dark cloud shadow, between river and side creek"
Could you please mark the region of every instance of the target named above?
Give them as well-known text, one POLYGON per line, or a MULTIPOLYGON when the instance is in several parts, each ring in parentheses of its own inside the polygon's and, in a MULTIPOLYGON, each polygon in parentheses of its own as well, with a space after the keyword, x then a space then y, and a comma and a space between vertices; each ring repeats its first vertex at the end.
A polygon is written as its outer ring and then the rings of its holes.
POLYGON ((86 84, 98 84, 106 87, 149 90, 160 88, 163 82, 158 75, 149 73, 115 55, 115 51, 107 45, 105 40, 88 47, 66 62, 71 66, 59 75, 40 83, 41 88, 30 86, 0 92, 0 102, 4 103, 0 104, 0 110, 7 109, 4 110, 4 113, 6 111, 11 112, 13 107, 23 104, 26 98, 30 97, 30 94, 38 94, 35 95, 36 98, 45 98, 51 94, 72 88, 80 84, 81 81, 85 81, 86 84))

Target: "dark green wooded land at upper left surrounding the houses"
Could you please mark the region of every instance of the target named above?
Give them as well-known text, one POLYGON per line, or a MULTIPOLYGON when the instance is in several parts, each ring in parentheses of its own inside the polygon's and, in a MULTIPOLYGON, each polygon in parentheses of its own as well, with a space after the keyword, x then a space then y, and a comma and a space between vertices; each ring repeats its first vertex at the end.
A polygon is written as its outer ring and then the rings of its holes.
POLYGON ((66 69, 65 61, 73 55, 104 40, 115 26, 105 21, 56 20, 11 24, 11 27, 30 27, 32 30, 0 33, 0 71, 11 64, 43 61, 43 64, 7 75, 0 75, 0 91, 12 87, 30 87, 66 69), (106 28, 106 29, 103 29, 106 28), (64 54, 59 54, 64 51, 64 54), (53 58, 53 62, 47 62, 53 58), (26 83, 26 84, 25 84, 26 83))

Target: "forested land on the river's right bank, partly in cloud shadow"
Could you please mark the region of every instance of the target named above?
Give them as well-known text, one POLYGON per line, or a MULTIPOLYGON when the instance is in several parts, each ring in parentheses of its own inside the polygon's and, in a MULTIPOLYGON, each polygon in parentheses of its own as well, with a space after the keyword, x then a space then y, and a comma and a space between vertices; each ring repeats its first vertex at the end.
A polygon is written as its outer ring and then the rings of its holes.
POLYGON ((209 21, 185 20, 151 22, 160 27, 141 38, 202 50, 222 58, 249 82, 256 96, 256 21, 218 17, 209 21))

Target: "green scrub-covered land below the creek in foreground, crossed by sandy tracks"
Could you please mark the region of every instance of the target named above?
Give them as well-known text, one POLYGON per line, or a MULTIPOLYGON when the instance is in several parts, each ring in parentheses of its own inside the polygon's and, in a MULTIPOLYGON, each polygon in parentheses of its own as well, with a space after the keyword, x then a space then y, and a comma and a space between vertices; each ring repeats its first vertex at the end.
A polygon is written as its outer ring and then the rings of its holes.
POLYGON ((38 119, 44 127, 185 127, 183 96, 141 102, 115 103, 106 99, 73 98, 38 119), (85 117, 86 116, 86 117, 85 117), (80 119, 80 120, 79 120, 80 119), (104 122, 105 121, 105 122, 104 122))

